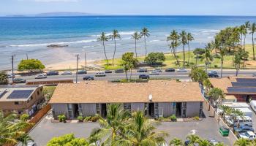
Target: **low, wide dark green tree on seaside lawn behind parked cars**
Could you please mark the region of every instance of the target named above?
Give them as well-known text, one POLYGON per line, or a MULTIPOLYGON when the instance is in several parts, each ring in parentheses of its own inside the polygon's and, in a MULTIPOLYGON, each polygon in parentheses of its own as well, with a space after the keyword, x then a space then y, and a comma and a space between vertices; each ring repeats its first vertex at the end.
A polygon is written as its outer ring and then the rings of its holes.
POLYGON ((163 61, 165 61, 164 53, 149 53, 145 58, 145 62, 151 64, 151 66, 157 63, 162 63, 163 61))

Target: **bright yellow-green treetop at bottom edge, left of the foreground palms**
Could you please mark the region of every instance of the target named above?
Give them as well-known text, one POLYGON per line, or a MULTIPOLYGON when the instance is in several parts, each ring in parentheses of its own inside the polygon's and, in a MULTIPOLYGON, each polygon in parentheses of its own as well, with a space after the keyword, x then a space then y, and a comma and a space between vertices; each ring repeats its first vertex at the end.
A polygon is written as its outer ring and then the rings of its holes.
POLYGON ((66 134, 61 137, 53 137, 47 143, 47 146, 89 146, 89 142, 86 139, 75 138, 74 134, 66 134))

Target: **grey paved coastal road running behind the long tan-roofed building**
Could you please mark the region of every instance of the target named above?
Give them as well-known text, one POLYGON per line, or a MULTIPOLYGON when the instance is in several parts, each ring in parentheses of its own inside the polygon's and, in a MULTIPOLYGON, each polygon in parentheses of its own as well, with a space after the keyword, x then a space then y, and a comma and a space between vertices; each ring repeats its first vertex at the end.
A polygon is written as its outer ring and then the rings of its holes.
MULTIPOLYGON (((220 73, 219 70, 217 72, 220 73)), ((252 74, 255 74, 256 71, 254 70, 241 70, 239 75, 249 76, 252 77, 252 74)), ((82 81, 83 77, 86 75, 94 76, 95 72, 89 72, 88 74, 78 74, 78 81, 82 81)), ((139 74, 149 74, 146 73, 138 73, 133 71, 132 78, 138 79, 139 74)), ((224 70, 223 77, 234 76, 236 74, 236 70, 224 70)), ((151 78, 170 78, 170 79, 180 79, 180 80, 190 80, 189 73, 187 72, 165 72, 163 71, 159 75, 151 75, 151 78)), ((71 75, 58 75, 58 76, 48 76, 47 79, 34 79, 34 76, 24 76, 21 77, 26 79, 27 81, 39 81, 39 80, 74 80, 75 81, 75 73, 71 75)), ((106 74, 106 77, 94 77, 95 80, 118 80, 118 79, 125 79, 126 76, 124 73, 111 73, 106 74)))

